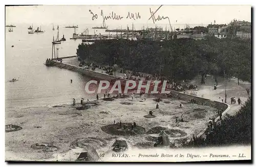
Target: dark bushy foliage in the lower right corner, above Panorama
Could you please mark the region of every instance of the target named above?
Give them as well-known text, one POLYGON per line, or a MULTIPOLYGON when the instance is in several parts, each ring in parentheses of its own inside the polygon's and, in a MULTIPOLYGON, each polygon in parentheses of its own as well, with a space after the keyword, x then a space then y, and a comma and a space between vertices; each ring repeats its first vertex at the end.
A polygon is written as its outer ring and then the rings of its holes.
POLYGON ((193 140, 183 147, 209 147, 226 145, 251 144, 251 98, 234 116, 225 116, 220 124, 215 125, 212 133, 206 138, 193 137, 193 140))

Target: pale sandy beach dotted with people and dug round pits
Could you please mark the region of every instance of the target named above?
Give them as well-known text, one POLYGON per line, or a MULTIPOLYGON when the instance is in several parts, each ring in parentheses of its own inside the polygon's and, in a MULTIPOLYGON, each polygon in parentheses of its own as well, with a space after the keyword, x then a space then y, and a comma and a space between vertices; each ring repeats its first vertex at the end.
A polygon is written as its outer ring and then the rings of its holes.
POLYGON ((79 143, 87 143, 97 152, 105 152, 111 149, 113 141, 118 137, 125 138, 129 149, 154 148, 153 138, 157 134, 147 133, 154 127, 171 130, 170 142, 179 145, 181 138, 198 134, 206 127, 209 118, 216 117, 218 113, 216 108, 170 98, 162 98, 159 109, 156 109, 155 97, 145 97, 145 101, 143 96, 134 97, 134 100, 131 97, 117 98, 114 101, 100 99, 98 105, 84 110, 77 110, 70 104, 6 112, 6 125, 22 127, 18 131, 6 132, 6 160, 51 159, 53 154, 66 153, 70 148, 79 146, 79 143), (179 107, 180 102, 183 103, 182 108, 179 107), (155 118, 144 117, 150 110, 155 118), (184 122, 180 121, 182 114, 184 122), (176 117, 179 126, 176 125, 176 117), (113 135, 102 131, 103 126, 114 124, 114 120, 122 123, 136 122, 145 132, 137 135, 113 135), (31 148, 36 143, 51 142, 57 148, 52 152, 31 148))

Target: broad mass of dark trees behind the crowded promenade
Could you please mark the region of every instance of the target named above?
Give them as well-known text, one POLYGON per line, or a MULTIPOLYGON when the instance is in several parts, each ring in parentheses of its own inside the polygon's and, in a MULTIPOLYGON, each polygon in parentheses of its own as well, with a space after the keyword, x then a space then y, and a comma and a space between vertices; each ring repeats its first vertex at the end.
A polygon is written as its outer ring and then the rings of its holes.
MULTIPOLYGON (((241 39, 176 39, 168 41, 98 40, 79 44, 77 55, 88 62, 161 74, 176 81, 196 75, 221 75, 251 81, 251 41, 241 39)), ((202 82, 204 77, 202 77, 202 82)))

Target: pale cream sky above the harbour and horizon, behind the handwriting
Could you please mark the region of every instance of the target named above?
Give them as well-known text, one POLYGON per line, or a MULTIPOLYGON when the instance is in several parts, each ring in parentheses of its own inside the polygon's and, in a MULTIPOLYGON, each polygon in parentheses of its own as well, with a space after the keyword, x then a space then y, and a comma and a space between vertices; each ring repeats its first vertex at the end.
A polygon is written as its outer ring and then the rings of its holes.
MULTIPOLYGON (((131 23, 151 24, 151 12, 155 12, 160 6, 86 6, 86 5, 57 5, 57 6, 15 6, 6 7, 6 24, 62 24, 79 25, 95 24, 103 25, 103 16, 123 17, 119 20, 106 19, 105 25, 126 25, 131 23), (94 20, 93 20, 93 14, 94 20), (135 15, 135 20, 126 18, 130 12, 135 15), (136 13, 140 18, 136 18, 136 13), (97 17, 96 17, 97 14, 97 17)), ((251 6, 169 6, 163 5, 155 13, 155 18, 168 17, 156 20, 156 24, 216 24, 229 23, 233 19, 251 21, 251 6), (159 17, 158 17, 159 16, 159 17)))

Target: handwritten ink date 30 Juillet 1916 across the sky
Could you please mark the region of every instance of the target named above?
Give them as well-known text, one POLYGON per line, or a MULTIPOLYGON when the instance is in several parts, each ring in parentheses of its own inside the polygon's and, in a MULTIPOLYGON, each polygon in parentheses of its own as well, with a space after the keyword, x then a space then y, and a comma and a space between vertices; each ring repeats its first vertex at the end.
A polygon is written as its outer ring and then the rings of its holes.
MULTIPOLYGON (((92 14, 92 20, 94 19, 98 19, 98 15, 97 14, 94 14, 91 10, 89 10, 90 14, 92 14)), ((103 10, 101 10, 100 12, 100 16, 102 16, 102 24, 103 24, 103 27, 106 27, 106 23, 105 21, 106 20, 109 20, 109 19, 112 19, 112 20, 121 20, 123 19, 124 17, 123 16, 120 16, 118 14, 116 14, 115 12, 111 12, 109 15, 105 15, 103 10)), ((139 12, 137 13, 131 13, 131 12, 128 12, 127 13, 127 16, 126 16, 126 19, 134 19, 134 20, 138 20, 140 19, 141 16, 139 14, 139 12)))

